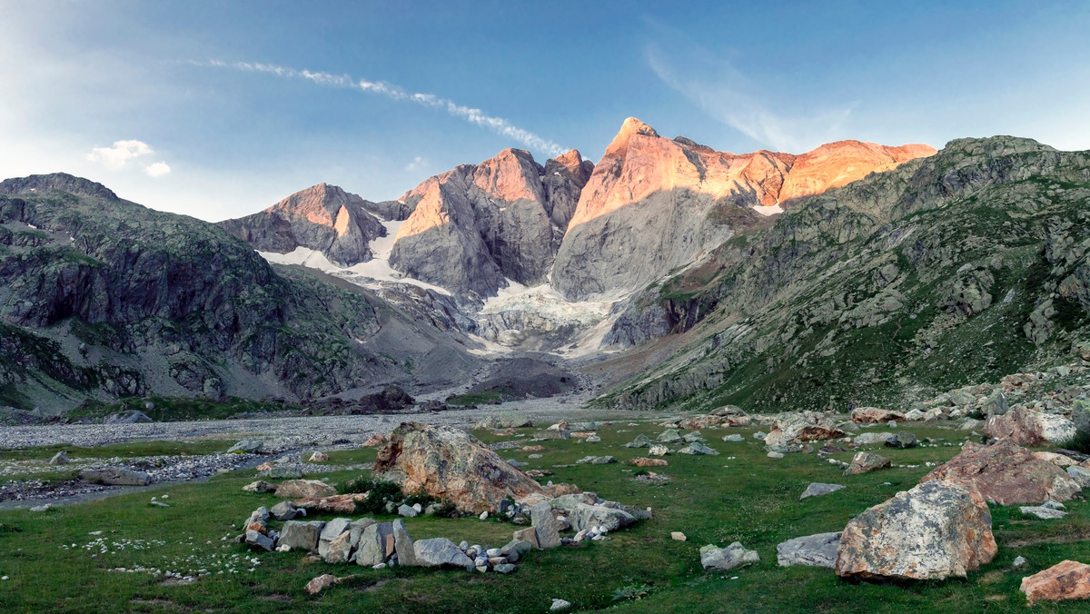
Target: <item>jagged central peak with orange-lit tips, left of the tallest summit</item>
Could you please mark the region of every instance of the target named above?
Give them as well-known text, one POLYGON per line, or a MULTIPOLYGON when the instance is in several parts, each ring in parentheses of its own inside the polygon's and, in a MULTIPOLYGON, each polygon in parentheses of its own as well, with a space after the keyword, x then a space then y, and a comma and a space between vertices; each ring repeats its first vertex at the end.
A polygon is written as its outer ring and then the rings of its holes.
POLYGON ((508 279, 540 285, 591 168, 576 151, 542 167, 529 152, 505 149, 433 177, 401 197, 413 213, 390 265, 480 297, 495 294, 508 279))

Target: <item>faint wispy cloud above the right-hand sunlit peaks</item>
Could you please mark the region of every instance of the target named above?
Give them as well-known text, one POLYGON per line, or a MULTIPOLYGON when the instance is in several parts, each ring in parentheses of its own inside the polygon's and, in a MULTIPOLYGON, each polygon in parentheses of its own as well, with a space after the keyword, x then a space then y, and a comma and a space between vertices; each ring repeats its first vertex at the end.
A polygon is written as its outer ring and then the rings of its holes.
POLYGON ((663 83, 710 117, 774 149, 801 153, 840 137, 855 107, 852 104, 810 113, 774 110, 749 76, 685 41, 669 51, 651 44, 646 60, 663 83))

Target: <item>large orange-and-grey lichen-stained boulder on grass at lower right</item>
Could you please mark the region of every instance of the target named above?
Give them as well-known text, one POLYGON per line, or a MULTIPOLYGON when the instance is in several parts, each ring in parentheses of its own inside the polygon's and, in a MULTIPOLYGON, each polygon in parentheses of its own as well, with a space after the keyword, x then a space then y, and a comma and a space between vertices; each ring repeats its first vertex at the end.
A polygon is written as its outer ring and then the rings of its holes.
POLYGON ((984 499, 934 480, 851 519, 840 535, 835 569, 840 577, 941 580, 965 577, 996 551, 984 499))

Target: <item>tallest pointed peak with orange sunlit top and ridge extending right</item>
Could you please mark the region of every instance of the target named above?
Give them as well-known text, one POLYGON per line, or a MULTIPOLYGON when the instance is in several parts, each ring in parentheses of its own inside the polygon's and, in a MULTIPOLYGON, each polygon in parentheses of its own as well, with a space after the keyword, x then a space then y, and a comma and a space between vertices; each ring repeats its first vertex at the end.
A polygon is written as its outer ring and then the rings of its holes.
POLYGON ((582 190, 553 287, 569 300, 643 288, 754 224, 760 217, 753 210, 934 152, 843 141, 801 156, 734 155, 681 136, 665 139, 629 118, 582 190))

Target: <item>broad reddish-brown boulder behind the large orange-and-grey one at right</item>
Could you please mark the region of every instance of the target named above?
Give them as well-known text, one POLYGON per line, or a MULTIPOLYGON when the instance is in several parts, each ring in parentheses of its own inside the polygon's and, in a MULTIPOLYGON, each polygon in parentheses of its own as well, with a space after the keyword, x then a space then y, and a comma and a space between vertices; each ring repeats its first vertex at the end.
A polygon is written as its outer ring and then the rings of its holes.
POLYGON ((1063 469, 1010 440, 991 446, 968 443, 961 453, 920 479, 948 480, 1000 505, 1067 501, 1079 484, 1063 469))

